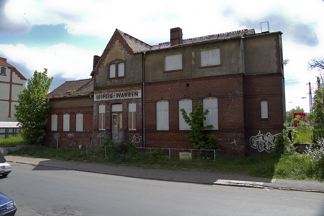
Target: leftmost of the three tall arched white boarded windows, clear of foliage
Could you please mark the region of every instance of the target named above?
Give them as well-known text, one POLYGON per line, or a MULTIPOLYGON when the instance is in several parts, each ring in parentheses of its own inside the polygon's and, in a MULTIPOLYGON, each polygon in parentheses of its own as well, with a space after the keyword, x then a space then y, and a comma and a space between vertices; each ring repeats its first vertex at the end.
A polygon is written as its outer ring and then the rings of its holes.
POLYGON ((156 102, 156 130, 169 129, 169 102, 156 102))

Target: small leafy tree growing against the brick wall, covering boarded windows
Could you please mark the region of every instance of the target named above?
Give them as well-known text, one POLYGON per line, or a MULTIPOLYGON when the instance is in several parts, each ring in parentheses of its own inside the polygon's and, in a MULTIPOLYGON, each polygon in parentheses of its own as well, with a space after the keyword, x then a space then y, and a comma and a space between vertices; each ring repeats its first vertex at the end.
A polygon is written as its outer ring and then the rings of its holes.
POLYGON ((191 142, 195 149, 216 149, 216 138, 214 134, 204 134, 205 129, 212 129, 212 125, 203 126, 203 121, 206 120, 208 110, 203 112, 203 103, 197 102, 193 104, 194 111, 189 116, 184 109, 180 109, 184 121, 190 126, 191 132, 186 135, 186 138, 191 142))

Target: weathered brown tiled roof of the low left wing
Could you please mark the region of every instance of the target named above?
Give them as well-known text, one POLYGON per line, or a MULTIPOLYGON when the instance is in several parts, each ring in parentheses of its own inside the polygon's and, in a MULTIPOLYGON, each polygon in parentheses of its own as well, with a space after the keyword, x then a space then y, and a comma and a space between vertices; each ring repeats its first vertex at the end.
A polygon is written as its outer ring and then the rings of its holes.
POLYGON ((93 93, 93 79, 65 81, 62 85, 47 94, 47 97, 68 97, 90 95, 93 93))

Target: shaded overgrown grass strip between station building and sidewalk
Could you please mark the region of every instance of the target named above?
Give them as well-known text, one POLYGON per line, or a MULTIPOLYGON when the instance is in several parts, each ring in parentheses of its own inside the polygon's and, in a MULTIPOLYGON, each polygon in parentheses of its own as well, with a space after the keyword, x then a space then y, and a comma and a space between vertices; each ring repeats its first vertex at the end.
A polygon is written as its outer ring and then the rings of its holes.
POLYGON ((179 160, 159 157, 154 154, 112 154, 103 156, 87 156, 85 150, 78 148, 61 147, 55 149, 47 146, 36 148, 22 148, 11 152, 11 155, 48 158, 63 161, 94 162, 108 165, 134 166, 146 169, 168 170, 201 170, 222 173, 248 174, 250 176, 272 178, 277 159, 269 155, 250 155, 239 159, 231 159, 218 155, 214 161, 179 160))

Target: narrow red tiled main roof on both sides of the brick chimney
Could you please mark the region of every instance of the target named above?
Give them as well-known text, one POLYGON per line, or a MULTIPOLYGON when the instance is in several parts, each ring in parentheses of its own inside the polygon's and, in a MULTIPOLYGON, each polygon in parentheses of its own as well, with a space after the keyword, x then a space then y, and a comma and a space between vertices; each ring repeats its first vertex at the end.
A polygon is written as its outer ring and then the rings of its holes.
MULTIPOLYGON (((220 40, 220 39, 226 39, 226 38, 231 38, 236 36, 247 36, 252 34, 255 34, 254 29, 249 29, 249 30, 244 29, 244 30, 232 31, 232 32, 227 32, 222 34, 213 34, 213 35, 207 35, 198 38, 185 39, 182 40, 182 44, 197 43, 197 42, 210 41, 216 39, 220 40)), ((152 46, 152 50, 163 49, 168 47, 170 47, 170 42, 159 43, 158 45, 152 46)))

